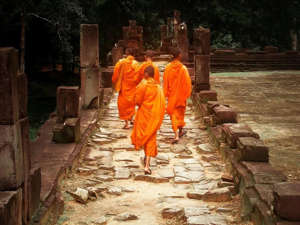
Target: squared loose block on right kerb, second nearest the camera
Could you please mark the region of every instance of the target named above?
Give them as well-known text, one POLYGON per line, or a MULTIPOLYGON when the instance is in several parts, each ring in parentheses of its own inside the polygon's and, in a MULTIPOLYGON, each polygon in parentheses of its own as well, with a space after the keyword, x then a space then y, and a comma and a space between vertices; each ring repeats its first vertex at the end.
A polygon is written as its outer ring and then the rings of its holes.
POLYGON ((238 138, 237 147, 235 156, 239 161, 269 161, 269 148, 260 139, 254 137, 238 138))

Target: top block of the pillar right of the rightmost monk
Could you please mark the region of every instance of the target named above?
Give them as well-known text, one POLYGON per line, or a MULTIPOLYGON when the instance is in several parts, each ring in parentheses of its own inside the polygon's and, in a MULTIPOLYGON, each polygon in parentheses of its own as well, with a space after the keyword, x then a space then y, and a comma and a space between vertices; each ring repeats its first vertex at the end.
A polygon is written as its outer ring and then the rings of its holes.
POLYGON ((204 28, 194 29, 194 51, 196 55, 210 54, 210 30, 204 28))

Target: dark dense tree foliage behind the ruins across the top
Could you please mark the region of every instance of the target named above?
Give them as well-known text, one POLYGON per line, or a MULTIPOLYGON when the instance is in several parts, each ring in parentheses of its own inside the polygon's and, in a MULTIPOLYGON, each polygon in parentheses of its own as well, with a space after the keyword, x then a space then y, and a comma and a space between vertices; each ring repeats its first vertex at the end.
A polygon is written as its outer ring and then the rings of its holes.
MULTIPOLYGON (((19 49, 21 7, 22 1, 0 2, 0 46, 19 49)), ((202 26, 211 29, 211 44, 217 48, 272 45, 290 50, 290 30, 300 30, 300 2, 295 0, 26 0, 25 67, 60 60, 71 71, 79 55, 80 23, 99 25, 103 65, 129 19, 143 26, 145 48, 156 49, 160 25, 173 17, 173 10, 181 11, 190 43, 193 29, 202 26)))

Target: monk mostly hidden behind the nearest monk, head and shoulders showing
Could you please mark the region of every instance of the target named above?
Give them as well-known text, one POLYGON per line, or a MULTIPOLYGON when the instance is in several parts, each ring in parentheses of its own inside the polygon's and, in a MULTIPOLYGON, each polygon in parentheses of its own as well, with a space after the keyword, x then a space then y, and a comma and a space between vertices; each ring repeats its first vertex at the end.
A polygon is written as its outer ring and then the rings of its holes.
POLYGON ((136 75, 136 78, 135 78, 135 81, 137 84, 139 84, 142 79, 145 79, 144 77, 144 73, 145 73, 145 68, 147 66, 153 66, 154 67, 154 77, 153 79, 159 84, 161 85, 161 81, 159 79, 159 69, 157 67, 157 65, 155 65, 152 60, 154 58, 154 53, 152 50, 147 50, 145 52, 145 62, 143 62, 143 64, 140 66, 140 70, 137 72, 137 75, 136 75))

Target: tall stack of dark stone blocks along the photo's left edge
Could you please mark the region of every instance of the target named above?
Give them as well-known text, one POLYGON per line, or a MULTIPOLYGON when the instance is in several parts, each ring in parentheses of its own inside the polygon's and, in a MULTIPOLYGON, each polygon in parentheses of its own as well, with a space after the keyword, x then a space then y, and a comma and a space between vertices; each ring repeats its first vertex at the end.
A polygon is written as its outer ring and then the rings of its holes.
POLYGON ((0 223, 7 225, 27 224, 41 193, 41 171, 32 178, 27 77, 18 57, 15 49, 0 48, 0 223), (33 192, 38 196, 31 198, 33 192))

